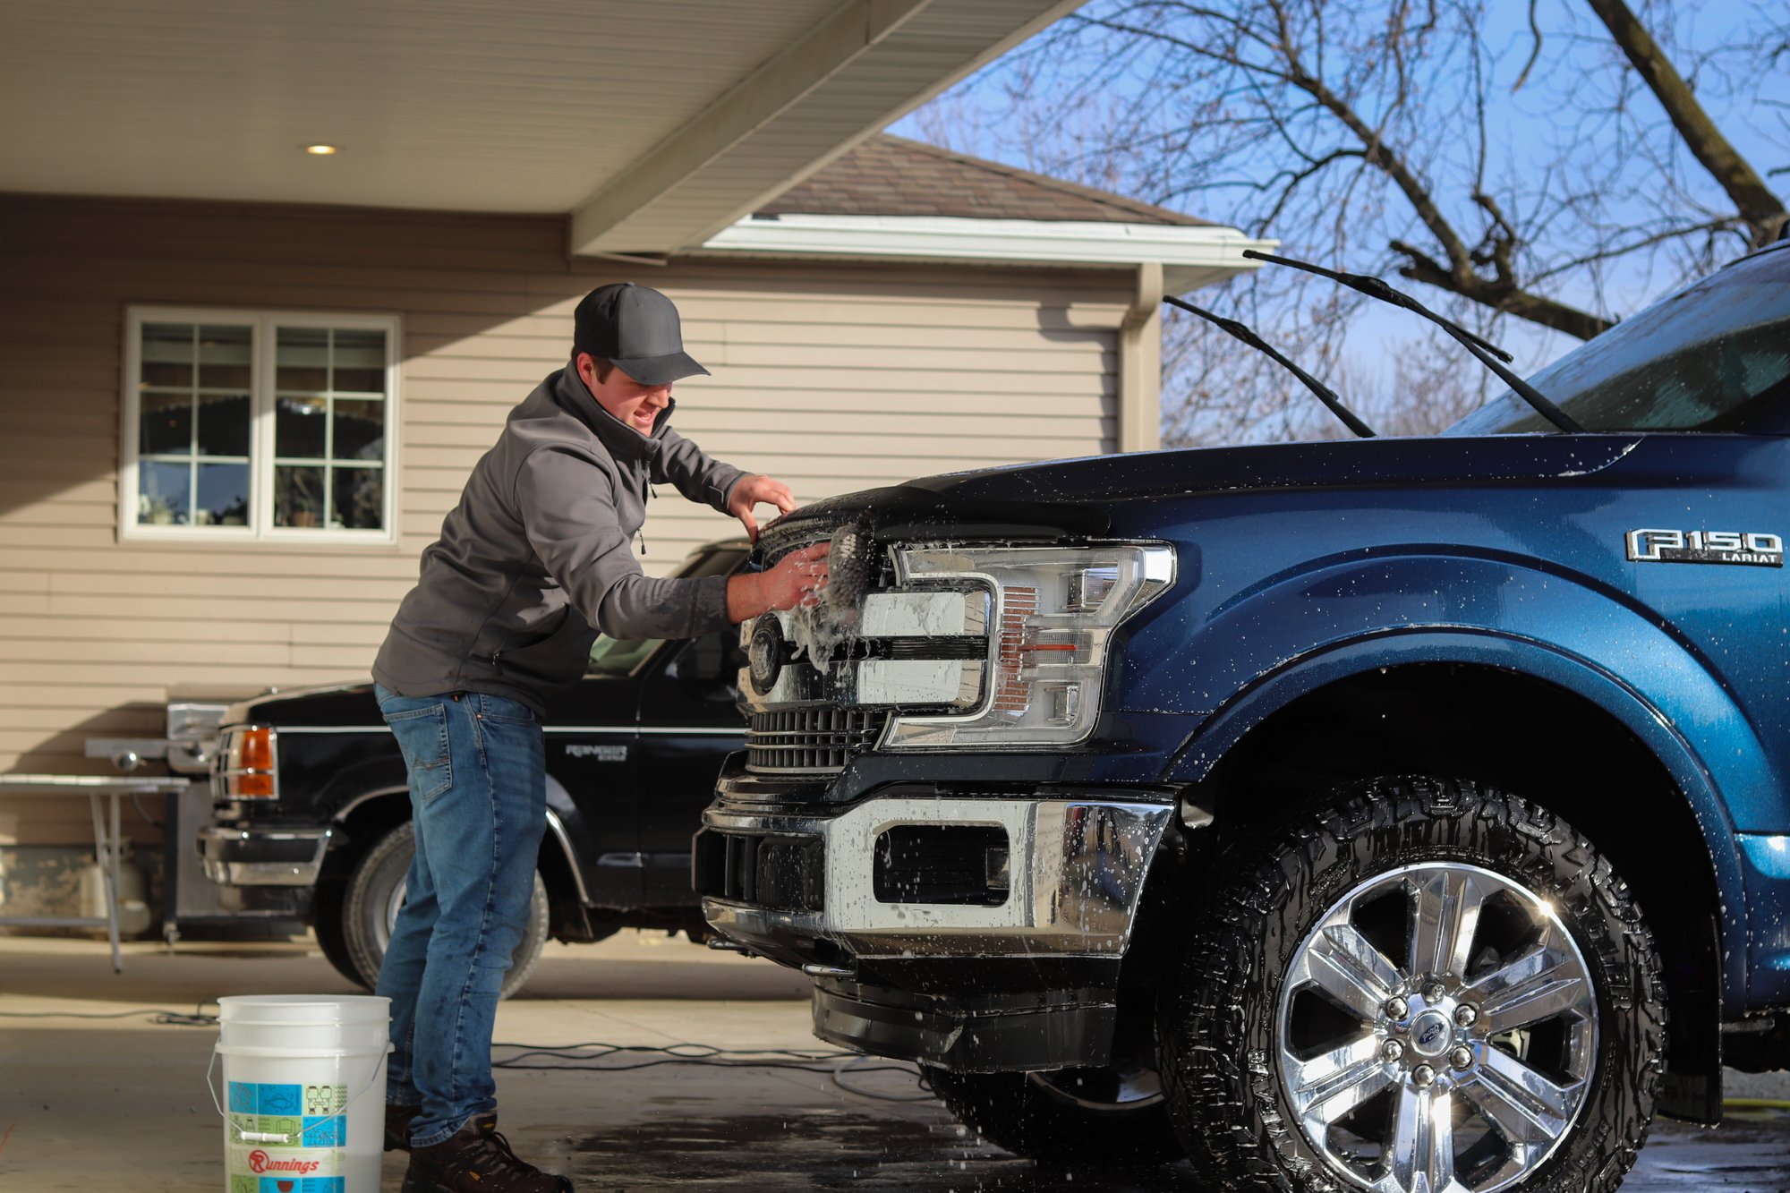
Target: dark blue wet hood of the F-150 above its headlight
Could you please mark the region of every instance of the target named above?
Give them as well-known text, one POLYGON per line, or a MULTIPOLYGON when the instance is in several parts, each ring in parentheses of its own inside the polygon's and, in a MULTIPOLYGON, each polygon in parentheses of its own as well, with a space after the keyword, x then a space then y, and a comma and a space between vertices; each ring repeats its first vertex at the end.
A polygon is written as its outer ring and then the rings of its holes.
POLYGON ((983 468, 804 505, 764 534, 761 552, 775 554, 843 521, 868 523, 888 541, 924 534, 1099 536, 1108 528, 1113 505, 1144 498, 1249 489, 1532 484, 1602 471, 1636 442, 1634 433, 1344 439, 983 468))

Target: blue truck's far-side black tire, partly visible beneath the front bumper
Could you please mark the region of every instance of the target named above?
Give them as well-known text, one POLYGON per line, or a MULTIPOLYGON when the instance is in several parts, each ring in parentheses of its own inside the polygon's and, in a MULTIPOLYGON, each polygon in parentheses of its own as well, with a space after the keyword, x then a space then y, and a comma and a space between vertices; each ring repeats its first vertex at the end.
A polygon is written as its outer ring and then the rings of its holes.
POLYGON ((1053 1164, 1146 1166, 1181 1159, 1169 1103, 1092 1109, 1063 1096, 1060 1073, 949 1073, 925 1069, 927 1084, 965 1127, 990 1143, 1053 1164))

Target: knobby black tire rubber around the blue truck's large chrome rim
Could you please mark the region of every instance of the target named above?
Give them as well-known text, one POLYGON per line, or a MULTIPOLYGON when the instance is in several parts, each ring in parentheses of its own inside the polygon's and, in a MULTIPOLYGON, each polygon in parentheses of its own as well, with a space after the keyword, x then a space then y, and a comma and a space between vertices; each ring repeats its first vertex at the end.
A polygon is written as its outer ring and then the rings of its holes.
POLYGON ((1276 1007, 1307 933, 1377 874, 1459 862, 1552 899, 1591 978, 1590 1087, 1552 1155, 1507 1189, 1607 1193, 1647 1139, 1665 1069, 1659 955, 1627 885, 1590 840, 1525 799, 1462 781, 1375 779, 1307 804, 1278 838, 1230 849, 1158 1003, 1162 1078, 1212 1188, 1344 1193, 1280 1078, 1276 1007))

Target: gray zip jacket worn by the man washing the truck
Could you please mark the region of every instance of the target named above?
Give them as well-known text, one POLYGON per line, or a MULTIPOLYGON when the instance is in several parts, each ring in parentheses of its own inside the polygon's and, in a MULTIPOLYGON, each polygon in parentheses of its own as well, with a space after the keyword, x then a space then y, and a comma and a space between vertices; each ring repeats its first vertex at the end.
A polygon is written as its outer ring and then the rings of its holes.
POLYGON ((571 367, 510 410, 442 536, 422 552, 372 677, 399 695, 483 691, 544 713, 578 679, 596 629, 696 638, 727 625, 727 577, 653 579, 630 541, 653 484, 727 512, 743 475, 661 412, 652 437, 596 403, 571 367))

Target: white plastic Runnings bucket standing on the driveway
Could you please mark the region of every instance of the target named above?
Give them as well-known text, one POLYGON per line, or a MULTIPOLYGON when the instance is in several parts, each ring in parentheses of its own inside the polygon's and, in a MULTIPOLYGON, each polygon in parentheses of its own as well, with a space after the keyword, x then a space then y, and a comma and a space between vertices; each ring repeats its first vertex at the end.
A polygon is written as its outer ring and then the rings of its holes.
POLYGON ((211 1060, 224 1059, 226 1193, 378 1193, 390 1003, 376 994, 218 1000, 211 1060))

